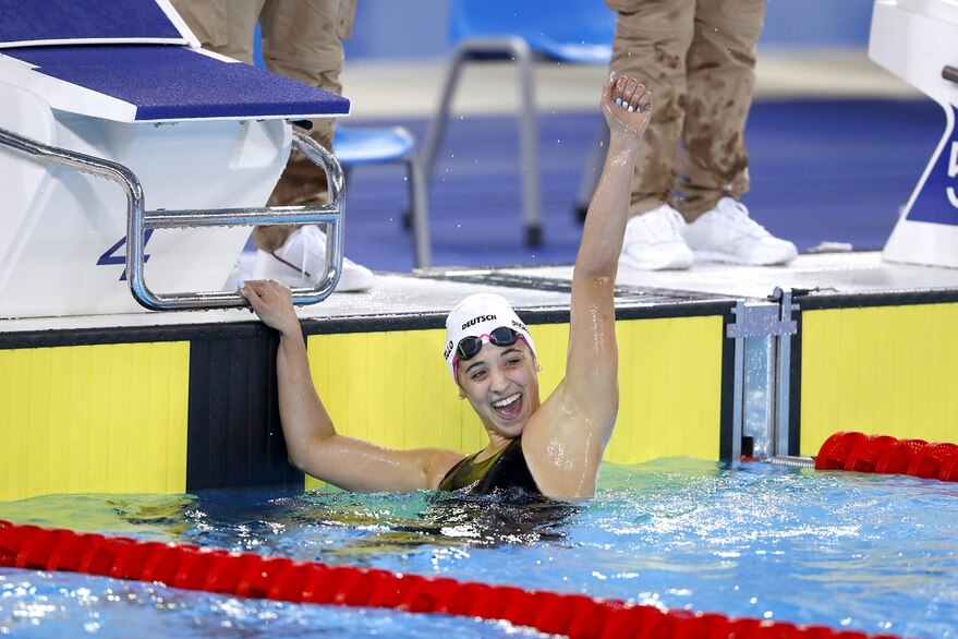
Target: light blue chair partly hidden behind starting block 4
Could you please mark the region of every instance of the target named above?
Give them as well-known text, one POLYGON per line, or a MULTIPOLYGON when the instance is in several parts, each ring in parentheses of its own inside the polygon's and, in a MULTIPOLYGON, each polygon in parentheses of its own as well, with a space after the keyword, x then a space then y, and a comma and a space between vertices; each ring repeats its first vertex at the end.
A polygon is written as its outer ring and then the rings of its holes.
POLYGON ((410 189, 411 225, 415 244, 416 268, 432 262, 429 214, 426 179, 416 155, 415 138, 402 126, 345 126, 337 124, 332 138, 336 158, 343 170, 360 165, 402 162, 407 166, 410 189))

